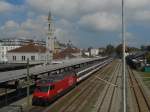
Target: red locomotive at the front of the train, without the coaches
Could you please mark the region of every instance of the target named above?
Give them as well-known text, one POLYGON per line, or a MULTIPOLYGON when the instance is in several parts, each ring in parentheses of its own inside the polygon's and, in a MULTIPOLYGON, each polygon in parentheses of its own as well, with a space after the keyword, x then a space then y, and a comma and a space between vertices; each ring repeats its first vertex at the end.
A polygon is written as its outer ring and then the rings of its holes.
POLYGON ((56 74, 37 81, 32 105, 48 105, 77 83, 75 73, 56 74))

